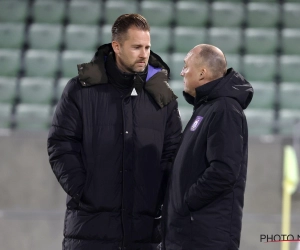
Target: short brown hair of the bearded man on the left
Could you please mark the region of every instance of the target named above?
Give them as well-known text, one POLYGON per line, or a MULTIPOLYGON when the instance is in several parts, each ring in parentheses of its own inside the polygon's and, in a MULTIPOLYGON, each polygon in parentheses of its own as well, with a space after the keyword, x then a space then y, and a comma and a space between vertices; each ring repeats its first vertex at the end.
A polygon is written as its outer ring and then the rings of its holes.
POLYGON ((126 39, 126 33, 130 27, 150 31, 150 26, 145 17, 140 14, 123 14, 117 18, 111 28, 112 41, 122 42, 126 39))

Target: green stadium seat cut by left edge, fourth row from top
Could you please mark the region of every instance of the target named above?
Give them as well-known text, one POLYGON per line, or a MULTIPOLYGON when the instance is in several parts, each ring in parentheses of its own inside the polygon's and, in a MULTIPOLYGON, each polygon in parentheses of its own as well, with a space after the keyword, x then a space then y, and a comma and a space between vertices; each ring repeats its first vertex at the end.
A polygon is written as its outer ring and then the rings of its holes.
POLYGON ((0 77, 0 103, 13 103, 16 97, 16 77, 0 77))

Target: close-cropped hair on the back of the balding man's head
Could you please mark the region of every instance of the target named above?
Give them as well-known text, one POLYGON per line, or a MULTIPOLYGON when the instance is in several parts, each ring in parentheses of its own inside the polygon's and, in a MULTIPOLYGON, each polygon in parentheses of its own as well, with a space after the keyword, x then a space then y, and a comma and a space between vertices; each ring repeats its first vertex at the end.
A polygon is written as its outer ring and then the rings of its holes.
POLYGON ((215 46, 202 44, 199 52, 201 63, 204 63, 211 71, 214 79, 226 74, 227 62, 224 53, 222 55, 216 50, 215 46))

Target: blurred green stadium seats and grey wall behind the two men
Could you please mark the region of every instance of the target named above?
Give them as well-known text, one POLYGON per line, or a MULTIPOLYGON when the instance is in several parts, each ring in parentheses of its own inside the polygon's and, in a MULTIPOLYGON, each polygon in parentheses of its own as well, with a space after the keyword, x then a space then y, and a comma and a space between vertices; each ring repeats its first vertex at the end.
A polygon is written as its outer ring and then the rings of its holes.
MULTIPOLYGON (((195 45, 219 47, 228 67, 253 85, 240 249, 281 249, 260 235, 282 233, 284 145, 299 155, 299 0, 0 0, 1 249, 61 249, 65 194, 48 163, 47 130, 76 65, 111 41, 111 26, 124 13, 150 23, 152 50, 170 66, 184 125, 192 107, 180 71, 195 45)), ((299 189, 291 212, 290 233, 298 235, 299 189)))

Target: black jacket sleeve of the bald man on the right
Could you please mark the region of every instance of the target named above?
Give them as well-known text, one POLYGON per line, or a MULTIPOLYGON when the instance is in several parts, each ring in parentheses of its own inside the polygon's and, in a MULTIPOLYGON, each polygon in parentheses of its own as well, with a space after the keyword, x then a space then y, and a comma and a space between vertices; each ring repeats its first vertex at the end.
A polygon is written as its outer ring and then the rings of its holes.
POLYGON ((242 124, 235 109, 224 108, 214 115, 207 136, 209 167, 185 194, 190 209, 198 210, 233 188, 243 160, 242 124))

